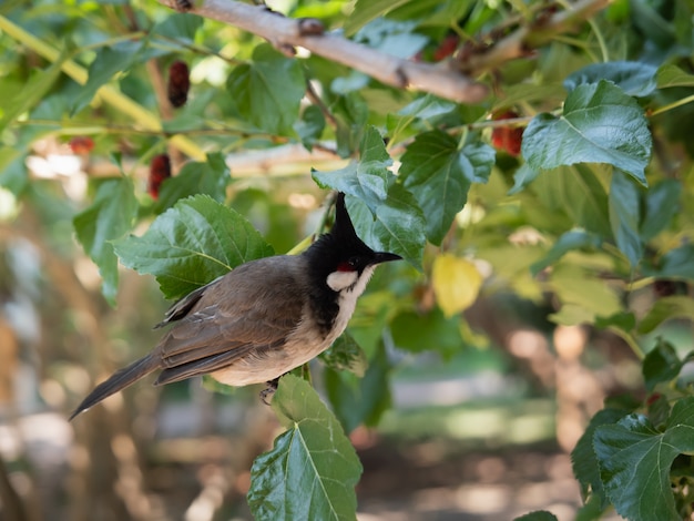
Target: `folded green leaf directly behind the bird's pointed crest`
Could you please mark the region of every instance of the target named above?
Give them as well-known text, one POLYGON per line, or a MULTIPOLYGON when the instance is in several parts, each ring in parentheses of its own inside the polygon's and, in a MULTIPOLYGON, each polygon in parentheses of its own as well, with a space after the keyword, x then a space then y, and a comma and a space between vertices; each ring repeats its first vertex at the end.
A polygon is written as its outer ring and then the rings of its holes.
POLYGON ((357 163, 334 172, 314 172, 314 180, 324 188, 347 194, 349 215, 364 242, 376 249, 399 254, 419 268, 426 243, 421 210, 388 170, 391 160, 375 127, 366 129, 360 152, 357 163))

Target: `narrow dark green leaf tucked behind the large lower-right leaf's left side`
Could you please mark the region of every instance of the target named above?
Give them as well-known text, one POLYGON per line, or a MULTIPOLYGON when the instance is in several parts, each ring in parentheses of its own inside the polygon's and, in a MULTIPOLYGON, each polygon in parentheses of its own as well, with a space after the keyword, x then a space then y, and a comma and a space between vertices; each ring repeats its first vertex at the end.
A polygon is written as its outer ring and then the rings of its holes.
POLYGON ((600 479, 600 464, 595 451, 593 450, 593 437, 595 436, 595 429, 598 429, 598 427, 616 423, 629 412, 631 411, 614 408, 599 410, 595 416, 591 418, 588 428, 579 439, 575 448, 571 451, 571 466, 573 468, 573 474, 581 486, 581 496, 586 498, 590 494, 591 497, 599 498, 602 509, 604 509, 609 502, 602 486, 602 480, 600 479))

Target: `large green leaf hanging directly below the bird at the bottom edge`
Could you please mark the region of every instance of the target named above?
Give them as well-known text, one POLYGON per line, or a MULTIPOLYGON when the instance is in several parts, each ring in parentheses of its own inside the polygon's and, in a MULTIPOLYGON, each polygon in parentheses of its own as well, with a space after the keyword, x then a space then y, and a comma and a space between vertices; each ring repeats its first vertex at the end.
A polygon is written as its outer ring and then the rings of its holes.
POLYGON ((254 518, 356 519, 361 463, 335 416, 293 375, 279 381, 273 409, 287 431, 251 469, 247 498, 254 518))

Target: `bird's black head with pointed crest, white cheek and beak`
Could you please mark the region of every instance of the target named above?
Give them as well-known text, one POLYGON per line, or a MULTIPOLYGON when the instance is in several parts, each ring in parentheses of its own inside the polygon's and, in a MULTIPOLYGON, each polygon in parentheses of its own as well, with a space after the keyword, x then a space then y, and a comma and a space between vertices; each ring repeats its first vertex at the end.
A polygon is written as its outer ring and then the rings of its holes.
POLYGON ((315 275, 330 289, 356 292, 357 296, 364 292, 376 266, 402 258, 392 253, 374 252, 357 236, 343 193, 337 194, 333 229, 322 235, 306 255, 315 275))

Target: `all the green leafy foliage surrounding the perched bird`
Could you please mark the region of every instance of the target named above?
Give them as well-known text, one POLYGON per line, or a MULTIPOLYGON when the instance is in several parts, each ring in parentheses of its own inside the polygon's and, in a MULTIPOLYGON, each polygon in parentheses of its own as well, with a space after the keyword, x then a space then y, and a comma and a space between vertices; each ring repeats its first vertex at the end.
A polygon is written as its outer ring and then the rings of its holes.
POLYGON ((47 196, 69 205, 111 304, 119 259, 177 298, 288 249, 300 234, 285 201, 318 187, 345 192, 359 235, 407 260, 381 268, 351 335, 322 357, 335 417, 308 384, 282 380, 274 408, 287 430, 252 471, 258 519, 354 519, 360 464, 341 430, 376 425, 389 408, 386 346, 448 358, 462 346, 461 311, 499 292, 551 303, 555 324, 615 333, 642 364, 646 398, 605 407, 573 452, 583 519, 610 505, 631 520, 690 517, 694 392, 683 369, 694 356, 651 334, 694 318, 692 4, 618 0, 559 24, 563 8, 539 1, 336 3, 283 6, 401 58, 445 59, 461 71, 477 58, 478 80, 493 93, 463 105, 386 86, 154 1, 7 2, 4 196, 39 211, 47 196), (527 53, 513 53, 523 31, 527 53), (457 42, 449 58, 443 41, 457 42), (498 62, 487 49, 511 51, 498 62), (161 85, 176 60, 190 65, 192 86, 174 112, 161 85), (519 116, 496 120, 500 111, 519 116), (509 127, 524 129, 518 157, 492 146, 492 130, 509 127), (75 136, 94 149, 65 152, 75 136), (79 167, 52 167, 47 143, 79 167), (243 176, 232 161, 229 173, 225 162, 286 145, 327 152, 330 162, 312 156, 310 176, 289 164, 293 185, 273 173, 243 176), (175 175, 154 200, 146 165, 164 152, 175 175), (84 171, 86 190, 62 190, 84 171), (509 239, 528 229, 535 239, 509 239), (630 297, 650 289, 635 309, 630 297))

